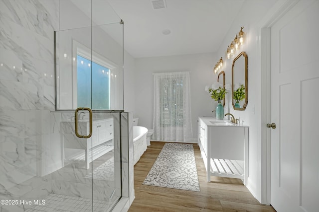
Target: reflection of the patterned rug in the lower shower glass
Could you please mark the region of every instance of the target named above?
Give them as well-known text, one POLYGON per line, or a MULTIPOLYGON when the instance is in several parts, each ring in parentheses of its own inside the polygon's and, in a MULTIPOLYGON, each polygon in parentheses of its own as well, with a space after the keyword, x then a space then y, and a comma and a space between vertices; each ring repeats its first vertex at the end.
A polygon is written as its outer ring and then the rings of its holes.
MULTIPOLYGON (((90 173, 84 178, 92 179, 92 174, 90 173)), ((93 170, 93 180, 114 181, 114 157, 93 170)))

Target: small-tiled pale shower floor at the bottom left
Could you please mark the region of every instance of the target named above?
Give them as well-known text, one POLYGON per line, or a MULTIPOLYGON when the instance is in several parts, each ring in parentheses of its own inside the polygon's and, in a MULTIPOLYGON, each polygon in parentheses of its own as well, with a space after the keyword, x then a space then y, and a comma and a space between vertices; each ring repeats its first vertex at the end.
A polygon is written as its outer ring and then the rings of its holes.
MULTIPOLYGON (((93 200, 94 212, 106 212, 105 201, 93 200)), ((50 194, 45 198, 45 205, 35 205, 26 212, 92 212, 92 199, 50 194)))

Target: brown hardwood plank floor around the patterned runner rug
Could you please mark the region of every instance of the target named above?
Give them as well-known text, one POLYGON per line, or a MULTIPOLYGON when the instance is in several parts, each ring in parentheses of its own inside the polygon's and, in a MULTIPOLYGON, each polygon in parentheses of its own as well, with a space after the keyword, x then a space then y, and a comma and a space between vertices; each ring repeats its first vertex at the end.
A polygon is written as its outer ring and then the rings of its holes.
POLYGON ((212 176, 206 182, 197 144, 193 146, 200 192, 142 185, 163 145, 151 141, 134 166, 135 200, 129 212, 275 212, 271 206, 259 204, 239 179, 212 176))

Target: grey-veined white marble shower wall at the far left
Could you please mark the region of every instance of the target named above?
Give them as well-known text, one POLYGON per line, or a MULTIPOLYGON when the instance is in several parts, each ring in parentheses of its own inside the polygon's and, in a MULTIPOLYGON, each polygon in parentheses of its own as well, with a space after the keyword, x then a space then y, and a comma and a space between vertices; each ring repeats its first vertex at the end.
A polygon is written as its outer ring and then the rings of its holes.
POLYGON ((57 29, 58 0, 0 0, 0 199, 51 192, 39 164, 51 137, 57 29))

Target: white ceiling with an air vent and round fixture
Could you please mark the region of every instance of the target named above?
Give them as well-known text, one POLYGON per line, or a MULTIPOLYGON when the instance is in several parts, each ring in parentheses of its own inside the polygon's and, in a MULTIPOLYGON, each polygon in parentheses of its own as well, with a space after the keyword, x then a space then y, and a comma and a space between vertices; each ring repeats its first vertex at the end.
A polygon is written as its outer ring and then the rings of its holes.
POLYGON ((244 0, 108 0, 124 20, 124 48, 135 58, 216 52, 244 0), (169 29, 169 35, 162 31, 169 29))

